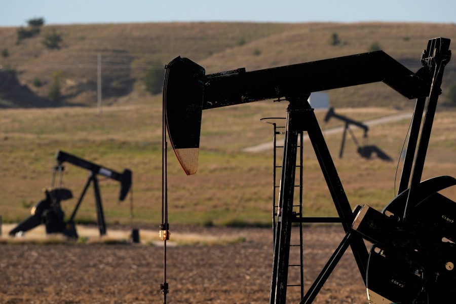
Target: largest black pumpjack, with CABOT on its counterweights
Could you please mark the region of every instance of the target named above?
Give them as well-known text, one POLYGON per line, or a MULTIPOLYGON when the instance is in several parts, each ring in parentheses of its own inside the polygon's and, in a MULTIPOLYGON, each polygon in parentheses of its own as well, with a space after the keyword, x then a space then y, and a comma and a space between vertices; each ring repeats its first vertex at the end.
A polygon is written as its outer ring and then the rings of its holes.
POLYGON ((187 175, 195 174, 198 167, 203 110, 265 99, 285 98, 289 102, 280 209, 275 224, 271 304, 286 302, 291 226, 296 222, 339 222, 346 233, 300 303, 315 299, 349 246, 371 304, 454 301, 456 204, 438 192, 456 185, 456 179, 440 176, 421 181, 443 71, 451 57, 449 44, 445 38, 430 40, 422 53, 423 67, 415 73, 383 51, 208 75, 203 67, 187 58, 177 57, 166 66, 164 121, 174 153, 187 175), (374 82, 383 82, 401 95, 416 99, 415 111, 397 197, 382 212, 367 205, 352 211, 307 100, 312 92, 374 82), (298 135, 303 131, 308 132, 338 217, 302 217, 293 212, 296 150, 298 135), (366 249, 364 239, 373 243, 370 250, 366 249))

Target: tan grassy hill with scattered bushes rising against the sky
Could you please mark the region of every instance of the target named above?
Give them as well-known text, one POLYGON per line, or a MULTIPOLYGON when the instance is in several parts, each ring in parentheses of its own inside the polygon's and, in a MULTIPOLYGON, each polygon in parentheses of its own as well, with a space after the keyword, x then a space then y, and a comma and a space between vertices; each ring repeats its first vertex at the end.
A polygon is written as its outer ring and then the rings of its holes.
MULTIPOLYGON (((0 27, 3 70, 13 70, 22 86, 48 98, 53 75, 60 75, 62 98, 51 105, 95 105, 97 56, 101 56, 105 104, 148 100, 144 77, 149 68, 163 69, 176 56, 188 57, 207 73, 246 67, 247 70, 363 53, 373 44, 413 71, 421 51, 436 36, 456 39, 454 24, 424 23, 138 23, 44 26, 41 34, 16 44, 17 28, 0 27), (58 50, 46 49, 43 35, 62 34, 58 50), (339 44, 331 45, 337 33, 339 44), (36 81, 41 86, 36 86, 36 81)), ((447 67, 444 87, 454 79, 456 63, 447 67)), ((17 88, 14 91, 19 91, 17 88)), ((335 106, 404 106, 406 100, 382 85, 330 92, 335 106), (394 100, 394 102, 391 102, 394 100)), ((30 106, 0 92, 0 106, 30 106)), ((41 103, 37 103, 41 105, 41 103)))

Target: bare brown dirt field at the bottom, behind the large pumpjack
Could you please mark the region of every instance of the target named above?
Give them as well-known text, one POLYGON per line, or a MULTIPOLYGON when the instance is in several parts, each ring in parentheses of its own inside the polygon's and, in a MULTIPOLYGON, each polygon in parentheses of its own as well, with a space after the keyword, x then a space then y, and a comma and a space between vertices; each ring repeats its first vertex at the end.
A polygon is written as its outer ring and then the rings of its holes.
MULTIPOLYGON (((179 227, 174 231, 185 232, 179 227)), ((168 246, 168 303, 267 303, 272 270, 270 229, 192 228, 244 236, 245 242, 168 246)), ((297 236, 293 232, 292 237, 297 236)), ((339 226, 305 228, 307 287, 343 238, 339 226)), ((290 261, 291 263, 292 261, 290 261)), ((297 278, 289 279, 289 283, 297 278)), ((293 276, 293 274, 290 274, 293 276)), ((139 244, 0 245, 1 303, 163 303, 163 247, 139 244)), ((288 303, 299 303, 289 287, 288 303)), ((351 251, 314 303, 367 303, 351 251)))

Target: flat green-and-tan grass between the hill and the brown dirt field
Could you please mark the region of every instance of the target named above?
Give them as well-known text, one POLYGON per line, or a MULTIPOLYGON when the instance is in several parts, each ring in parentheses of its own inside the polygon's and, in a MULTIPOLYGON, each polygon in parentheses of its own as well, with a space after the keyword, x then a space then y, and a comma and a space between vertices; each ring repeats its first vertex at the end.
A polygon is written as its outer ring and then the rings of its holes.
MULTIPOLYGON (((272 202, 272 151, 242 153, 244 147, 271 140, 272 127, 261 117, 284 115, 285 103, 271 101, 226 107, 203 113, 199 171, 185 176, 169 153, 170 222, 181 224, 232 225, 270 222, 272 202)), ((369 120, 399 113, 392 108, 336 109, 341 115, 369 120)), ((340 125, 322 122, 322 128, 340 125)), ((30 208, 44 198, 49 186, 57 149, 122 172, 133 171, 133 223, 161 221, 161 106, 110 107, 102 116, 91 108, 11 109, 0 111, 0 215, 4 222, 19 222, 30 208)), ((456 130, 453 111, 439 111, 423 178, 454 175, 456 130)), ((393 162, 364 160, 347 138, 343 159, 338 159, 340 134, 327 136, 339 176, 352 204, 368 203, 382 209, 394 197, 394 178, 408 121, 375 126, 369 144, 391 156, 393 162)), ((361 131, 354 130, 362 142, 361 131)), ((62 202, 67 215, 72 211, 88 178, 88 172, 65 166, 63 187, 71 189, 72 200, 62 202)), ((318 162, 305 148, 305 204, 308 215, 334 215, 335 210, 318 162)), ((397 183, 396 183, 397 184, 397 183)), ((130 196, 118 203, 119 184, 100 180, 101 196, 108 224, 130 223, 130 196)), ((451 193, 450 193, 451 194, 451 193)), ((454 195, 454 194, 452 194, 454 195)), ((87 193, 76 217, 96 221, 92 190, 87 193)))

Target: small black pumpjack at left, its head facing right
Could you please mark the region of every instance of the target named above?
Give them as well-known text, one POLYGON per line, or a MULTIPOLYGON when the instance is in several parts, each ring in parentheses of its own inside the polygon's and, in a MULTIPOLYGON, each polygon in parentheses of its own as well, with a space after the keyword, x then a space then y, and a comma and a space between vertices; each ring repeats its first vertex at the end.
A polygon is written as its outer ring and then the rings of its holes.
POLYGON ((125 200, 131 187, 132 172, 129 169, 125 169, 123 173, 118 173, 60 150, 57 151, 55 159, 57 160, 57 165, 53 170, 51 188, 45 189, 45 199, 37 203, 32 208, 31 215, 14 227, 14 229, 10 231, 9 235, 20 235, 21 233, 31 230, 40 224, 45 224, 47 234, 61 233, 68 238, 77 239, 78 233, 76 232, 74 225, 74 217, 78 212, 79 206, 82 203, 90 183, 93 183, 95 192, 95 204, 100 236, 105 235, 106 223, 104 220, 103 205, 101 203, 97 175, 119 181, 121 183, 119 201, 123 201, 125 200), (83 192, 81 193, 78 203, 75 205, 74 210, 67 221, 64 220, 64 213, 60 203, 61 201, 71 199, 73 195, 69 189, 60 187, 64 170, 63 163, 65 162, 90 171, 89 178, 83 192), (56 172, 59 172, 59 180, 57 188, 54 188, 56 172))

